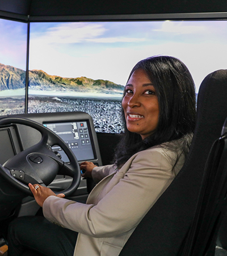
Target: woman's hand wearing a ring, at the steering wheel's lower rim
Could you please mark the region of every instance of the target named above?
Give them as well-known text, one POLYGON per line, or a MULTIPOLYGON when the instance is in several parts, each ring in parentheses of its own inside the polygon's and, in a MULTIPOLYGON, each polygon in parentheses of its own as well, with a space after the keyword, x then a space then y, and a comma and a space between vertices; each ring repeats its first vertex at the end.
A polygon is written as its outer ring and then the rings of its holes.
POLYGON ((58 194, 54 193, 50 188, 43 187, 39 184, 28 184, 28 187, 30 187, 31 192, 33 196, 35 197, 35 200, 37 204, 39 204, 40 207, 43 207, 44 201, 47 199, 49 196, 57 196, 57 197, 65 197, 64 194, 58 194))

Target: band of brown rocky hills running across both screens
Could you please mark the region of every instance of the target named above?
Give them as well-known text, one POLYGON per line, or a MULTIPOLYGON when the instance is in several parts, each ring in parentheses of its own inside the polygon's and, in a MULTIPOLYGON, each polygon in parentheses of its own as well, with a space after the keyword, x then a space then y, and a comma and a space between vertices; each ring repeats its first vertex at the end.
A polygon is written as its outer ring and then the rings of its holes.
MULTIPOLYGON (((0 90, 24 88, 26 72, 9 65, 0 64, 0 90)), ((51 76, 41 70, 29 71, 29 88, 73 92, 122 93, 123 85, 108 80, 93 80, 87 77, 65 78, 51 76)))

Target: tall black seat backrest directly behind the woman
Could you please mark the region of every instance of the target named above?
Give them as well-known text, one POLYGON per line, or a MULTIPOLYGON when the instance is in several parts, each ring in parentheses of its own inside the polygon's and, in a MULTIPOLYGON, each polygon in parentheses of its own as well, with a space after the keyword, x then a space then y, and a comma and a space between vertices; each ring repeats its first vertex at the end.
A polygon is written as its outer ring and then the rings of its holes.
POLYGON ((213 142, 227 117, 227 70, 209 74, 197 97, 194 138, 186 162, 129 238, 120 256, 182 255, 213 142))

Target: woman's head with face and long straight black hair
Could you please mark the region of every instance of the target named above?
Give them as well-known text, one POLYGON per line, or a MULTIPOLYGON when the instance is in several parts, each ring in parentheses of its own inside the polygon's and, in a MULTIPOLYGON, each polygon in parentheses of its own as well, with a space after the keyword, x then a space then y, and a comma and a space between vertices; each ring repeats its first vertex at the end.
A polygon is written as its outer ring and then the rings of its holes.
POLYGON ((175 141, 175 147, 181 148, 178 139, 192 134, 195 125, 191 73, 174 57, 141 60, 129 75, 122 106, 125 133, 116 150, 118 167, 136 152, 158 144, 175 141))

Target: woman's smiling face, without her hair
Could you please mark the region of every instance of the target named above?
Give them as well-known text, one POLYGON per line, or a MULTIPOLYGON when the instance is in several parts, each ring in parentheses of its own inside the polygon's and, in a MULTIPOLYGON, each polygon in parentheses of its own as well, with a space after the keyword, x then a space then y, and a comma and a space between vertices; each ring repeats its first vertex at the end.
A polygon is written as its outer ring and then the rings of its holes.
POLYGON ((132 133, 145 139, 157 128, 158 97, 144 70, 137 69, 128 80, 122 107, 127 129, 132 133))

